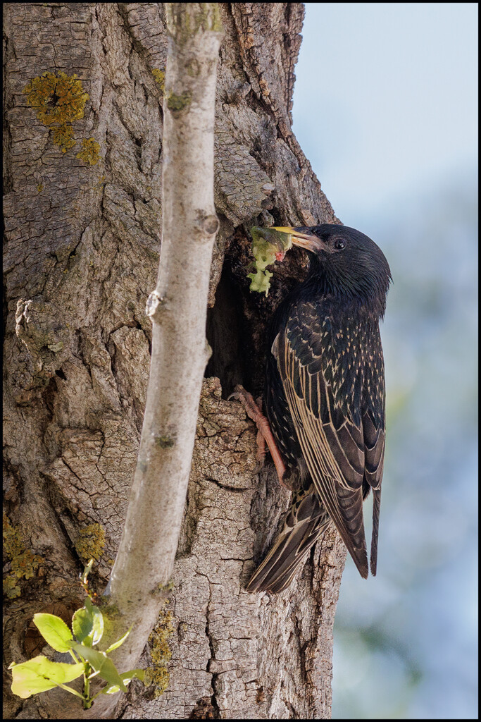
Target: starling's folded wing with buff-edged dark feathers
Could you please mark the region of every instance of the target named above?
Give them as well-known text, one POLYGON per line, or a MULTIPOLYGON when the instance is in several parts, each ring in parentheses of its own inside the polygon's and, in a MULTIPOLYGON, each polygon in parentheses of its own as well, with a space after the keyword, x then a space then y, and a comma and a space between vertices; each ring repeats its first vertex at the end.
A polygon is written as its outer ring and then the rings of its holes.
POLYGON ((314 488, 366 578, 361 380, 345 343, 343 357, 342 339, 333 344, 332 328, 307 304, 292 311, 272 351, 314 488))

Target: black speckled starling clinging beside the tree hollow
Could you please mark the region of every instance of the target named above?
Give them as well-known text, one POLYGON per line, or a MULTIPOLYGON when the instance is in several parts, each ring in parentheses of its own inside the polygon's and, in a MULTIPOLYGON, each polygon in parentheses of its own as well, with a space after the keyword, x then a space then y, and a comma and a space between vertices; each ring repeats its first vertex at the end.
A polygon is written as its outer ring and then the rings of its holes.
POLYGON ((278 227, 311 251, 309 275, 275 312, 265 377, 268 421, 294 490, 281 534, 247 585, 280 592, 332 522, 363 578, 363 500, 372 490, 376 574, 384 464, 379 320, 391 280, 381 249, 342 225, 278 227))

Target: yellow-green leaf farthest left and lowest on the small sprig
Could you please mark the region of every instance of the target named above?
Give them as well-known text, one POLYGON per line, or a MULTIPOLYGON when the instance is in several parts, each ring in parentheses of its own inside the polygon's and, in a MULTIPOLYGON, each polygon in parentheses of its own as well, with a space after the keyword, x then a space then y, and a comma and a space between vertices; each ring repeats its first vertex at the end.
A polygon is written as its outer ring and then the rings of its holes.
POLYGON ((51 662, 43 654, 22 664, 12 662, 9 669, 12 669, 12 692, 23 700, 30 695, 52 690, 58 684, 71 682, 84 673, 83 664, 51 662))

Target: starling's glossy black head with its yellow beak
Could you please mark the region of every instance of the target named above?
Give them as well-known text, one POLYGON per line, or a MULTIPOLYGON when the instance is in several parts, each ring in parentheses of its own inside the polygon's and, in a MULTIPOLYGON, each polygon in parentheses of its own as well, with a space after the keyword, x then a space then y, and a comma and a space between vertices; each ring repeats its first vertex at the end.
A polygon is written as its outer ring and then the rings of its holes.
POLYGON ((392 280, 389 264, 374 240, 343 225, 276 227, 312 253, 309 279, 335 297, 366 305, 384 315, 392 280))

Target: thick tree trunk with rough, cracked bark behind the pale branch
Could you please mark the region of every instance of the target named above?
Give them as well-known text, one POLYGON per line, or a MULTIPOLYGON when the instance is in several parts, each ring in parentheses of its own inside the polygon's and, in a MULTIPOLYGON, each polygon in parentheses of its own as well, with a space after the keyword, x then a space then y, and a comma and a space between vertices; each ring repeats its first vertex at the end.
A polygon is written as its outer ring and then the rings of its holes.
MULTIPOLYGON (((91 554, 100 557, 91 586, 102 592, 122 534, 159 264, 167 35, 156 3, 4 8, 8 666, 40 653, 35 612, 56 604, 69 617, 81 606, 76 578, 91 554), (45 71, 67 79, 42 100, 55 83, 45 71)), ((291 131, 303 5, 220 9, 213 354, 172 599, 139 665, 152 684, 132 682, 115 716, 329 718, 345 548, 328 531, 287 591, 243 591, 289 494, 271 464, 257 469, 255 427, 226 397, 237 383, 262 392, 266 323, 305 272, 291 251, 269 297, 251 294, 250 227, 337 219, 291 131)), ((22 701, 4 679, 6 716, 80 716, 74 697, 56 713, 50 692, 22 701)))

